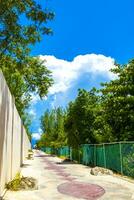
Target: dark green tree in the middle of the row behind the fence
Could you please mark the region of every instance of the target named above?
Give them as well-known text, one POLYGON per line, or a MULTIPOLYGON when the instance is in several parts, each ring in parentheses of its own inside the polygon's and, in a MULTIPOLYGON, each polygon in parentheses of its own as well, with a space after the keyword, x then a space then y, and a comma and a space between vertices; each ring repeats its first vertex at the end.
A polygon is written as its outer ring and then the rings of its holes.
POLYGON ((81 89, 75 101, 69 104, 65 131, 70 146, 95 142, 93 122, 97 99, 94 89, 90 92, 81 89))

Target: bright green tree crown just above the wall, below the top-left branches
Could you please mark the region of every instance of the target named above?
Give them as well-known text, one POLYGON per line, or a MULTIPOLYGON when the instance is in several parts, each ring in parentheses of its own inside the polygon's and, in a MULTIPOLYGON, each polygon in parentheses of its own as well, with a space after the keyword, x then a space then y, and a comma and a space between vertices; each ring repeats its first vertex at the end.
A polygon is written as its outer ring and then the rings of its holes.
POLYGON ((41 98, 47 95, 48 88, 53 84, 51 72, 39 58, 27 57, 27 64, 21 69, 20 64, 10 56, 6 56, 2 63, 0 68, 22 116, 29 106, 32 93, 38 94, 41 98))

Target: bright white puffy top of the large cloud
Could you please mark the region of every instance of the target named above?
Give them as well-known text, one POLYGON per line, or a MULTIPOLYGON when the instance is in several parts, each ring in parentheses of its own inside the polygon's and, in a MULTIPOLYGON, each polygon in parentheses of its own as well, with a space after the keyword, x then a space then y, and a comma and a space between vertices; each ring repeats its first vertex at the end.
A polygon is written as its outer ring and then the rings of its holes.
POLYGON ((79 55, 71 62, 54 56, 39 57, 46 60, 45 65, 52 71, 54 85, 50 88, 49 94, 66 92, 85 73, 94 77, 103 75, 109 79, 114 78, 113 73, 109 71, 114 66, 114 59, 104 55, 79 55))

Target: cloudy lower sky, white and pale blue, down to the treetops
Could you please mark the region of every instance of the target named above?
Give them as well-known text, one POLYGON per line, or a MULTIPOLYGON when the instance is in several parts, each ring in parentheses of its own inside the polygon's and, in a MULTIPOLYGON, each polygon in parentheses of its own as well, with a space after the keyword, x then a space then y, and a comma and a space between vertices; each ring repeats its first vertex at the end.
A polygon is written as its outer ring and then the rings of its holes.
POLYGON ((114 78, 110 72, 114 66, 114 59, 104 55, 79 55, 73 61, 43 55, 40 59, 45 60, 44 65, 52 71, 54 84, 43 100, 37 95, 33 96, 29 113, 33 118, 31 131, 35 133, 35 138, 39 137, 37 133, 41 133, 40 117, 46 109, 66 107, 67 103, 76 97, 78 88, 89 90, 92 87, 99 87, 100 82, 114 78))

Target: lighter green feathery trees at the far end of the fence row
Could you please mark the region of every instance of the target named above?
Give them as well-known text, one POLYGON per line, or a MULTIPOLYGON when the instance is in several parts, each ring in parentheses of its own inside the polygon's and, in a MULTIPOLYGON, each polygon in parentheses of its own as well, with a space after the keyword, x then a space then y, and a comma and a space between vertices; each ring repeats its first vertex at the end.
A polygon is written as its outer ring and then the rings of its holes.
POLYGON ((64 131, 65 111, 60 107, 51 111, 46 111, 41 117, 41 127, 43 130, 37 147, 61 147, 66 144, 66 136, 64 131))

